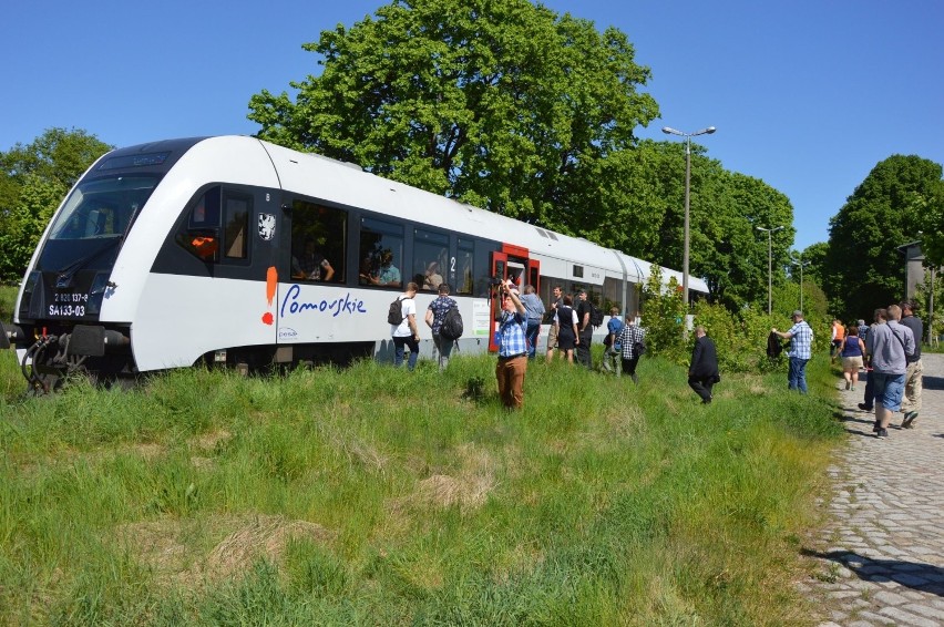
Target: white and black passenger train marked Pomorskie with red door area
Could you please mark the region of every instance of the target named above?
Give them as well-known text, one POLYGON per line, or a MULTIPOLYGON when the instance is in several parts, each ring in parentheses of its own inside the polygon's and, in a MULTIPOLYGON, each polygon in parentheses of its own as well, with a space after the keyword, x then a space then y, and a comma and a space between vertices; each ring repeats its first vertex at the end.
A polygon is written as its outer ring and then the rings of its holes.
MULTIPOLYGON (((470 354, 496 350, 495 278, 531 284, 545 302, 560 286, 636 311, 651 268, 255 137, 167 140, 109 152, 75 183, 32 255, 12 323, 0 323, 0 348, 16 347, 43 390, 73 372, 383 360, 390 301, 415 281, 424 311, 447 281, 470 354)), ((689 290, 708 291, 695 277, 689 290)))

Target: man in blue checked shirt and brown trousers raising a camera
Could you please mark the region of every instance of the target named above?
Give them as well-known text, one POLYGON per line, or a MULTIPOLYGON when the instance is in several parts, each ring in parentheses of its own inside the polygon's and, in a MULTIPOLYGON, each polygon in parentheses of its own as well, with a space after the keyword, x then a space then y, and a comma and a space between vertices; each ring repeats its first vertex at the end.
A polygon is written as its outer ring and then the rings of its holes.
POLYGON ((499 298, 502 299, 502 320, 495 338, 499 343, 499 363, 495 367, 499 397, 507 409, 521 409, 527 371, 526 309, 511 280, 499 284, 499 298))

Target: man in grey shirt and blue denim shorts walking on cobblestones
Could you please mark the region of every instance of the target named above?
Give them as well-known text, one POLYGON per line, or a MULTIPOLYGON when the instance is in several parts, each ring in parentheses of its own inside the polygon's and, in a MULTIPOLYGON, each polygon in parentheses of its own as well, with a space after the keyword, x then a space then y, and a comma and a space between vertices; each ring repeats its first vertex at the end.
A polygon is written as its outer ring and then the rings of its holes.
POLYGON ((889 307, 885 314, 887 319, 882 318, 882 311, 880 309, 876 312, 878 325, 869 332, 869 341, 865 342, 865 350, 872 360, 875 388, 875 425, 872 430, 876 438, 889 436, 892 413, 899 411, 902 404, 907 356, 914 352, 911 329, 899 323, 901 307, 889 307))

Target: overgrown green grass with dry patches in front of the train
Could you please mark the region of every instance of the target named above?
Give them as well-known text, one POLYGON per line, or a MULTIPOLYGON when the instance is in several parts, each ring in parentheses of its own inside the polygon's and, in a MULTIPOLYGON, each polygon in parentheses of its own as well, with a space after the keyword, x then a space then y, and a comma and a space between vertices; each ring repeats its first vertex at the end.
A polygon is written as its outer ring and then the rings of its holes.
POLYGON ((782 625, 841 426, 811 388, 494 360, 184 370, 21 399, 0 356, 0 624, 782 625), (484 394, 466 395, 484 381, 484 394))

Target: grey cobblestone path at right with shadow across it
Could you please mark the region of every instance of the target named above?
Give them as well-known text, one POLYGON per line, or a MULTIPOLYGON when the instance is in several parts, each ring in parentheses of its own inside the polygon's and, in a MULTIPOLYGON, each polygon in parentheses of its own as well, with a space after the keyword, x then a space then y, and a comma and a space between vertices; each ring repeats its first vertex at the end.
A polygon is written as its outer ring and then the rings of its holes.
POLYGON ((829 469, 829 523, 804 552, 815 574, 799 584, 820 627, 944 625, 944 354, 922 363, 914 429, 896 413, 885 440, 856 407, 864 382, 839 392, 849 445, 829 469))

